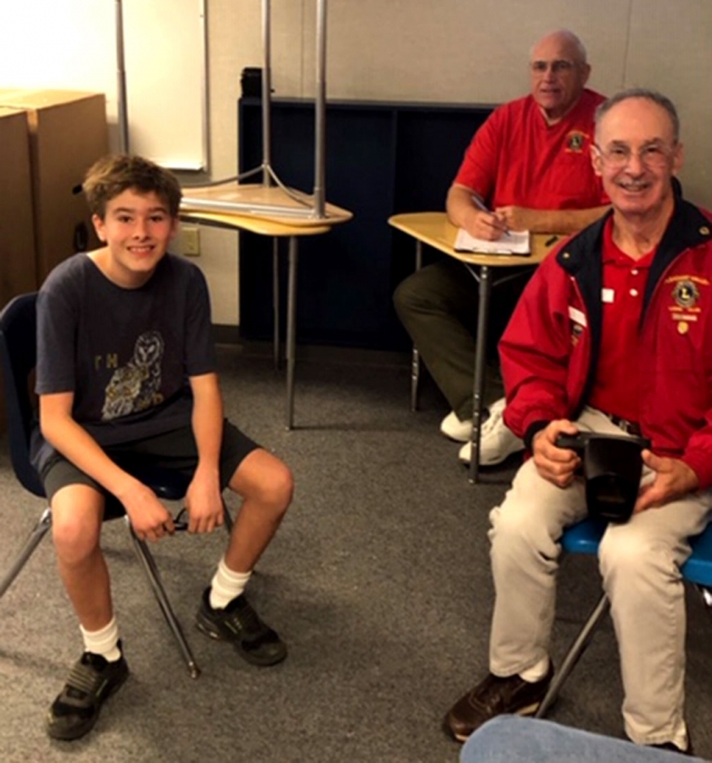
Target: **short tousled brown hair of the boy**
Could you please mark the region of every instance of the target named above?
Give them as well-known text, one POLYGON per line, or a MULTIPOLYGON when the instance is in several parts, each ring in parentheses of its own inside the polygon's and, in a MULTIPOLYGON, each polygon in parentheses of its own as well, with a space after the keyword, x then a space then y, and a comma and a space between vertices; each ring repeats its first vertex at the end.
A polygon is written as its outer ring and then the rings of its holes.
POLYGON ((182 191, 176 176, 157 164, 130 153, 109 153, 88 170, 82 184, 92 215, 103 220, 107 204, 125 190, 155 192, 171 217, 178 217, 182 191))

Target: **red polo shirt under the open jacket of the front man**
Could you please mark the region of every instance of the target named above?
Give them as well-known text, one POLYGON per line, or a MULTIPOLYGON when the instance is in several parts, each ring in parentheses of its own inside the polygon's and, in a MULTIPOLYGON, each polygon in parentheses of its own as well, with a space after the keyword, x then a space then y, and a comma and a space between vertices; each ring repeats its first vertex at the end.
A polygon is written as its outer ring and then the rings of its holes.
POLYGON ((613 241, 613 218, 603 230, 603 334, 596 378, 589 404, 594 408, 639 420, 637 329, 643 296, 655 249, 633 259, 613 241))

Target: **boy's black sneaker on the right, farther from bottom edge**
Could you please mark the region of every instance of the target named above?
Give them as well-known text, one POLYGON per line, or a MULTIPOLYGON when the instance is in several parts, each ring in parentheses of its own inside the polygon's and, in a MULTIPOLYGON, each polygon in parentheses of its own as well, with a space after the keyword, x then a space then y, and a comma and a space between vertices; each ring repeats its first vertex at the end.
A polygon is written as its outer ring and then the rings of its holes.
POLYGON ((287 656, 286 644, 263 623, 245 594, 229 602, 225 610, 214 610, 210 606, 210 588, 206 588, 196 615, 196 625, 210 638, 229 641, 238 654, 253 665, 276 665, 287 656))

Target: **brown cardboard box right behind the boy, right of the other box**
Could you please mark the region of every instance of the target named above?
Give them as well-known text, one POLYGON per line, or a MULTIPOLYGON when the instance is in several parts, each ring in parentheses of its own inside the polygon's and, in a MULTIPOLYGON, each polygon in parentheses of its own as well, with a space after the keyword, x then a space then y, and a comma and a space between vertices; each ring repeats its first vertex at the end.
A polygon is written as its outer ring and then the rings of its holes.
POLYGON ((85 198, 75 189, 109 150, 106 99, 72 90, 0 89, 0 106, 26 113, 39 286, 58 262, 99 244, 85 198))

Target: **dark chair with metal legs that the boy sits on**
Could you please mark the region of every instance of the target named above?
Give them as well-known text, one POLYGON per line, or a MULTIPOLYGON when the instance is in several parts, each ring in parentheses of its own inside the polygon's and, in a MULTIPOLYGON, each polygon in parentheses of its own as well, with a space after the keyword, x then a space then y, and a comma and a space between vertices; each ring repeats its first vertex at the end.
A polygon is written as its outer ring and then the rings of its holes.
MULTIPOLYGON (((44 488, 39 475, 30 463, 30 436, 38 426, 36 406, 30 392, 30 380, 37 361, 37 294, 21 295, 12 299, 0 314, 0 367, 4 380, 4 399, 8 417, 8 438, 12 468, 22 486, 33 495, 44 498, 44 488)), ((186 495, 189 477, 179 472, 160 468, 131 468, 131 474, 150 487, 159 498, 180 501, 186 495)), ((141 561, 146 575, 166 623, 174 634, 180 653, 188 666, 191 677, 197 678, 200 670, 176 614, 168 601, 160 581, 154 556, 147 544, 139 539, 129 522, 123 506, 113 497, 107 499, 105 521, 123 517, 129 528, 134 549, 141 561)), ((225 512, 226 525, 231 525, 228 512, 225 512)), ((52 513, 44 508, 39 522, 22 546, 9 572, 0 579, 0 598, 28 562, 52 524, 52 513)))

